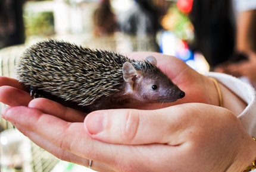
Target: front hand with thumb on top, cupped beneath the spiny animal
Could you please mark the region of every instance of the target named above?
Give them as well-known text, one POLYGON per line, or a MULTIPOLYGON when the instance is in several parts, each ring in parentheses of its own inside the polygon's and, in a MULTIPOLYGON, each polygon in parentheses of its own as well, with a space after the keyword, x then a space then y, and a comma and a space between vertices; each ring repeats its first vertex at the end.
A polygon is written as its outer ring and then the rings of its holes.
POLYGON ((256 155, 232 112, 208 104, 100 110, 83 123, 83 113, 36 98, 2 116, 61 160, 90 159, 96 171, 242 171, 256 155))

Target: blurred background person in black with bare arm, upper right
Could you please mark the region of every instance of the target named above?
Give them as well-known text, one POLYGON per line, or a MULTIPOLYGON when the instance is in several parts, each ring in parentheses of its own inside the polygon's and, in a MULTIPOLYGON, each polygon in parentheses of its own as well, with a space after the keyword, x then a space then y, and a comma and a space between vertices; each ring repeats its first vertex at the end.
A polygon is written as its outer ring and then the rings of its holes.
POLYGON ((239 77, 256 87, 256 1, 193 0, 190 17, 196 49, 211 70, 239 77))

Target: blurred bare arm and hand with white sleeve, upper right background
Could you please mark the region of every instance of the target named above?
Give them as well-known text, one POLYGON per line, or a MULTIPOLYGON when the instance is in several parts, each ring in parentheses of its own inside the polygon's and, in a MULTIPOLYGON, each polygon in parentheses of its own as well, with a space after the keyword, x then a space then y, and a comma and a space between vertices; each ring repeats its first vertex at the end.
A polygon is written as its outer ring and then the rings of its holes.
POLYGON ((256 1, 236 0, 236 52, 239 62, 225 62, 216 67, 235 77, 248 79, 256 88, 256 1))

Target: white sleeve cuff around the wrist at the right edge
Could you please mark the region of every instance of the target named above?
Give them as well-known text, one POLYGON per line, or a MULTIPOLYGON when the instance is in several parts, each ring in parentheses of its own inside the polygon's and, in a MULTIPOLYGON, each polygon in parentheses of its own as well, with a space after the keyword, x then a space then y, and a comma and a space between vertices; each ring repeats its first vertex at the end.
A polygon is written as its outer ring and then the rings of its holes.
POLYGON ((256 138, 256 100, 254 88, 240 79, 226 74, 209 72, 205 76, 216 78, 218 82, 221 82, 221 84, 225 85, 248 104, 245 110, 238 115, 238 119, 249 135, 256 138))

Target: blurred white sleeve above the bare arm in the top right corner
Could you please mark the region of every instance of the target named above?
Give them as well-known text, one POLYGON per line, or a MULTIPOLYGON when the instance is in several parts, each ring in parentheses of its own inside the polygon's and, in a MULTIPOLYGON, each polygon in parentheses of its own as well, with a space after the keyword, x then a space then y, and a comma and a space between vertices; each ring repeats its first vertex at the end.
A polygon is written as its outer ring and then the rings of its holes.
POLYGON ((234 0, 236 11, 250 11, 256 9, 256 0, 234 0))

